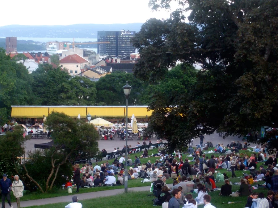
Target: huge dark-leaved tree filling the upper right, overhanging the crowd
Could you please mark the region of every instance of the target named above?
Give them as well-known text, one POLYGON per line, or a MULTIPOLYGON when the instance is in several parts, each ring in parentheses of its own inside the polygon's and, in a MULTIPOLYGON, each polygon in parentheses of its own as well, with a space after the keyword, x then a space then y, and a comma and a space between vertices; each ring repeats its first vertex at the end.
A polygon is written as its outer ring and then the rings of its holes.
MULTIPOLYGON (((170 2, 151 0, 150 6, 168 9, 170 2)), ((252 135, 260 126, 276 127, 277 1, 178 3, 184 9, 163 21, 148 20, 135 35, 133 44, 141 57, 134 68, 137 78, 149 82, 164 79, 176 60, 201 65, 187 95, 188 105, 177 106, 183 115, 180 122, 193 137, 217 130, 225 132, 224 138, 249 133, 249 141, 255 141, 252 135), (184 11, 191 11, 189 23, 184 22, 184 11)), ((189 139, 183 139, 184 143, 189 139)), ((278 145, 268 147, 272 148, 278 145)))

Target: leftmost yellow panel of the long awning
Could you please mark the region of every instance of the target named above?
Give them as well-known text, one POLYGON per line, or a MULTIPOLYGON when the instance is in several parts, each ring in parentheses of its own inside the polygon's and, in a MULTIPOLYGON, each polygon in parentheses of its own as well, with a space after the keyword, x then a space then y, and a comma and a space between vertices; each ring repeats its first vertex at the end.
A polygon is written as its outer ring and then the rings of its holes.
POLYGON ((13 118, 43 118, 48 116, 48 108, 34 107, 12 107, 11 117, 13 118))

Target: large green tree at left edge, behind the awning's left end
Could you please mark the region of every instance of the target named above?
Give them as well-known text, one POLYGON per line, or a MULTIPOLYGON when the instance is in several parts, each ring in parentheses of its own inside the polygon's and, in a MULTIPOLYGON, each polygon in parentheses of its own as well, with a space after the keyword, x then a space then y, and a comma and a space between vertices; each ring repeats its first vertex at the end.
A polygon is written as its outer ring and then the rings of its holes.
POLYGON ((11 115, 11 105, 29 105, 34 102, 32 76, 21 63, 12 61, 0 48, 0 125, 11 115))

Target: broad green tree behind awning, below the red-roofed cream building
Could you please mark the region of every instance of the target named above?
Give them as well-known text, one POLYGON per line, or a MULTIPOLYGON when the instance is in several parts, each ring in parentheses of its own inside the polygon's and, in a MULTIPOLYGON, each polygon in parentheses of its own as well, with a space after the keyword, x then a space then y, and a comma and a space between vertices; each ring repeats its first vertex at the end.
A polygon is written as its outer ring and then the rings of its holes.
POLYGON ((40 64, 32 73, 32 88, 41 105, 92 105, 95 103, 95 83, 85 77, 74 77, 54 69, 49 64, 40 64))

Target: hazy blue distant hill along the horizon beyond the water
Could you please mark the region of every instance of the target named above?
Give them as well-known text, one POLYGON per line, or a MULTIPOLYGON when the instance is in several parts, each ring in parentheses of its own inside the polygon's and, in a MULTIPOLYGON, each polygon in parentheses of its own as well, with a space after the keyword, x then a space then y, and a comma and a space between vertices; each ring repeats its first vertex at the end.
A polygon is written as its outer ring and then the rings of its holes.
POLYGON ((98 31, 120 31, 124 29, 138 32, 142 24, 7 25, 0 27, 0 37, 97 38, 98 31))

